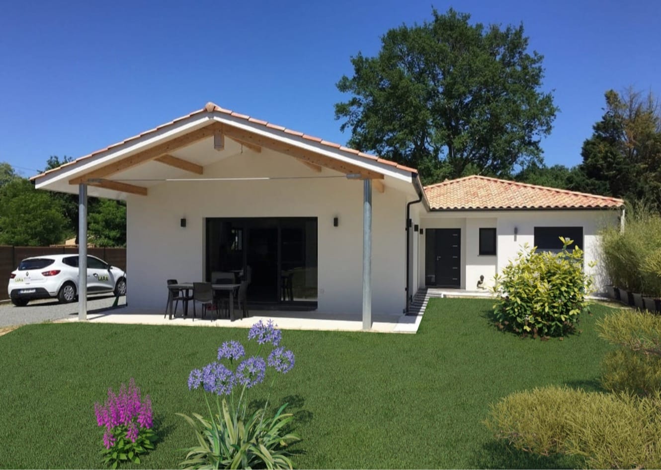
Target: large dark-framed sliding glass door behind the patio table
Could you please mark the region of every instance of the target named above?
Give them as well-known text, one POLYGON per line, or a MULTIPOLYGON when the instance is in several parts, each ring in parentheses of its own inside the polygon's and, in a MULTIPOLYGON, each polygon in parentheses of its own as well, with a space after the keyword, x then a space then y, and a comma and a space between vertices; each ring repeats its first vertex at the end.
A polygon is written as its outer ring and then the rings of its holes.
POLYGON ((316 302, 317 218, 207 218, 207 280, 242 270, 249 302, 316 302))

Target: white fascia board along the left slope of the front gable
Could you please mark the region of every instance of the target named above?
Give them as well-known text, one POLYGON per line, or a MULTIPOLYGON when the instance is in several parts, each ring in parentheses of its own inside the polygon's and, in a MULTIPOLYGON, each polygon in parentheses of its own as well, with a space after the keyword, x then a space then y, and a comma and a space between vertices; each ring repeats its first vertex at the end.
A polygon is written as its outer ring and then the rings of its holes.
POLYGON ((39 176, 34 180, 34 187, 36 189, 46 188, 48 185, 54 184, 61 180, 70 180, 71 178, 76 178, 81 176, 98 166, 104 166, 105 164, 110 163, 112 160, 123 158, 133 153, 143 151, 149 147, 153 147, 161 143, 161 141, 169 141, 180 135, 184 135, 190 131, 194 131, 197 128, 204 127, 207 125, 212 118, 208 113, 201 115, 190 116, 190 118, 182 119, 171 125, 163 127, 163 129, 158 129, 153 133, 144 135, 137 139, 133 139, 124 145, 118 147, 113 147, 104 152, 100 152, 98 155, 91 156, 89 158, 83 158, 81 161, 74 164, 67 165, 59 170, 45 174, 44 176, 39 176))

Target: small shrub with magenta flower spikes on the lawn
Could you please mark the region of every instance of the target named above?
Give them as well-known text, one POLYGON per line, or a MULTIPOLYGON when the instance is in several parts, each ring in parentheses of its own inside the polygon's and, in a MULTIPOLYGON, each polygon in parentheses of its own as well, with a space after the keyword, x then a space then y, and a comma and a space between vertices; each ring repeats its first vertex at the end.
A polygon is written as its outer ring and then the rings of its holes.
POLYGON ((133 378, 117 394, 109 388, 106 402, 95 403, 94 411, 98 426, 105 428, 103 461, 112 468, 121 461, 140 463, 137 455, 154 448, 157 436, 152 428, 151 399, 149 395, 141 398, 133 378))

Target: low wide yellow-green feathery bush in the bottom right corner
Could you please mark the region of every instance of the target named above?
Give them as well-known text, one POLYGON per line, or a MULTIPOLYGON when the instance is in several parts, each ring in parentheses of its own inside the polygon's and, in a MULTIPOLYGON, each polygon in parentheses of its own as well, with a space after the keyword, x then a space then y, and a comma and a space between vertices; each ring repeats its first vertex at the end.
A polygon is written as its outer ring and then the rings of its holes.
POLYGON ((546 387, 492 405, 486 425, 525 452, 578 455, 592 468, 661 468, 661 397, 546 387))

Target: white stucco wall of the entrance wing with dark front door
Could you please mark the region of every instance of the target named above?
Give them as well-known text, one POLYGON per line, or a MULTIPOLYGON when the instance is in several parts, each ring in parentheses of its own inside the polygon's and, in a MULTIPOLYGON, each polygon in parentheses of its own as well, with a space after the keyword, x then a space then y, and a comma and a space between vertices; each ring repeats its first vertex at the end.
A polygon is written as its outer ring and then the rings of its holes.
MULTIPOLYGON (((617 224, 618 211, 463 211, 432 212, 422 215, 421 226, 428 228, 461 228, 461 288, 475 290, 480 275, 486 286, 493 285, 493 276, 502 271, 510 259, 527 243, 535 242, 535 226, 581 226, 585 252, 585 269, 594 277, 597 292, 607 284, 603 264, 600 263, 600 228, 617 224), (479 255, 479 228, 496 228, 496 255, 479 255), (514 228, 517 234, 514 235, 514 228), (589 264, 596 261, 596 266, 589 264)), ((418 253, 418 287, 424 287, 424 237, 418 253)))

